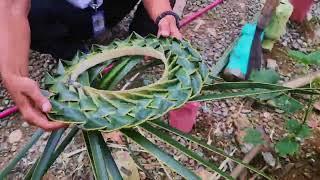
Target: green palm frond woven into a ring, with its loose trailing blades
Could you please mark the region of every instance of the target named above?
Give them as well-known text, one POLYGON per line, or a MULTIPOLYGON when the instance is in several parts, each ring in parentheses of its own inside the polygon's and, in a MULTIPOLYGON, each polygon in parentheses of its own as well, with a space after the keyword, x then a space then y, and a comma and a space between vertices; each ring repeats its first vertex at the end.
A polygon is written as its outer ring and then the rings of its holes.
MULTIPOLYGON (((154 63, 146 66, 151 65, 154 63)), ((109 46, 94 46, 90 54, 78 54, 72 61, 59 62, 57 75, 48 75, 46 78, 47 89, 53 104, 53 110, 48 116, 52 120, 69 123, 70 130, 66 132, 66 129, 60 129, 50 135, 45 151, 29 169, 25 179, 41 179, 78 132, 81 132, 84 137, 95 178, 122 179, 101 131, 120 131, 172 171, 186 179, 199 179, 193 171, 140 134, 137 128, 148 131, 209 170, 219 173, 225 179, 232 179, 232 177, 214 163, 180 144, 168 133, 198 144, 208 151, 229 158, 252 172, 270 179, 241 160, 226 155, 222 150, 169 127, 159 118, 188 101, 256 97, 278 93, 318 95, 319 92, 312 91, 312 88, 293 89, 263 82, 205 84, 208 73, 210 72, 202 62, 199 53, 186 41, 171 38, 158 39, 154 36, 142 38, 136 34, 126 40, 115 41, 109 46), (162 78, 155 84, 145 87, 115 91, 115 87, 129 72, 139 72, 135 69, 135 65, 143 59, 141 56, 144 55, 162 60, 166 67, 162 78), (110 73, 101 75, 103 67, 110 63, 117 64, 110 73), (66 136, 61 139, 64 133, 66 136)), ((26 154, 28 148, 37 141, 41 132, 38 130, 39 134, 32 138, 28 147, 24 148, 1 171, 0 179, 5 179, 26 154)))

